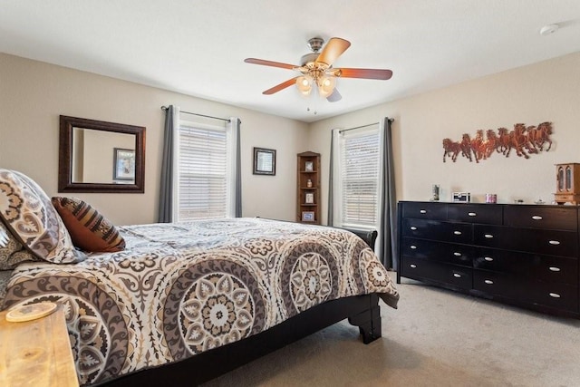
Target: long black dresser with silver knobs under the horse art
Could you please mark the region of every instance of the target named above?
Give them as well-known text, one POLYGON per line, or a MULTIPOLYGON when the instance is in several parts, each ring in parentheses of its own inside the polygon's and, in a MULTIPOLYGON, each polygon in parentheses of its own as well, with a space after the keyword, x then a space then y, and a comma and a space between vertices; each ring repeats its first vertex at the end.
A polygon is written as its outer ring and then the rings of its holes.
POLYGON ((580 317, 576 206, 401 201, 401 276, 580 317))

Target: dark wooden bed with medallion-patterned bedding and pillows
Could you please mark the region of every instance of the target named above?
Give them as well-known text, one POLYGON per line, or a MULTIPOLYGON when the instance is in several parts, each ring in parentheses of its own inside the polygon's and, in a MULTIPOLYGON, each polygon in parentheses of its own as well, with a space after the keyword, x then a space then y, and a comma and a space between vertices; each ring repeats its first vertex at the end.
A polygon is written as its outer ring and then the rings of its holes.
POLYGON ((0 219, 12 241, 3 254, 0 232, 0 305, 63 305, 82 385, 196 385, 344 318, 369 343, 381 336, 379 298, 399 298, 343 229, 263 218, 115 227, 7 169, 0 219), (78 247, 91 238, 111 251, 78 247))

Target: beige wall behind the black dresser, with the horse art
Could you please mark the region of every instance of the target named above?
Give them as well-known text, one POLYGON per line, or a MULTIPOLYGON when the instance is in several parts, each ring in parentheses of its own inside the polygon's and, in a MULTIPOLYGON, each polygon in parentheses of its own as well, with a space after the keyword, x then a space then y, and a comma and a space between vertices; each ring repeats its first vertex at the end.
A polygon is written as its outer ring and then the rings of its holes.
MULTIPOLYGON (((393 76, 397 76, 394 73, 393 76)), ((311 125, 310 142, 322 153, 323 221, 328 197, 330 131, 394 118, 392 124, 396 191, 399 200, 426 200, 431 185, 440 184, 440 198, 453 191, 468 191, 472 201, 484 202, 497 193, 498 202, 538 198, 552 202, 557 163, 580 162, 580 53, 572 53, 504 73, 463 82, 411 98, 385 102, 311 125), (444 138, 473 138, 478 129, 506 127, 517 122, 537 125, 552 121, 554 141, 549 152, 528 160, 495 153, 478 164, 459 157, 443 162, 444 138)))

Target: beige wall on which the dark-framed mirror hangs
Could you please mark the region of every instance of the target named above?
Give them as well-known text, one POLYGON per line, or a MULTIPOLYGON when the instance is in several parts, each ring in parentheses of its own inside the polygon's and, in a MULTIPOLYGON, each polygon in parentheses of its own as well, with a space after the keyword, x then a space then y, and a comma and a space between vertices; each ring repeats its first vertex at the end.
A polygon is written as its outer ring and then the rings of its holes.
POLYGON ((59 115, 145 126, 144 194, 60 195, 86 200, 118 225, 155 222, 165 115, 160 107, 169 104, 239 117, 243 216, 294 219, 295 157, 307 150, 305 123, 5 53, 0 53, 0 168, 20 170, 49 196, 59 195, 59 115), (252 174, 253 147, 277 150, 274 177, 252 174))

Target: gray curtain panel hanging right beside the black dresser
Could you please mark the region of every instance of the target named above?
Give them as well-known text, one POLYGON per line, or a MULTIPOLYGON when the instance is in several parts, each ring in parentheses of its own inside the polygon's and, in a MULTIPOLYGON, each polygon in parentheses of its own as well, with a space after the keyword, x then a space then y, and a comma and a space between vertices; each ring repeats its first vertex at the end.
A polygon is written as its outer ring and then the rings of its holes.
POLYGON ((397 270, 397 198, 395 198, 395 175, 392 161, 391 122, 388 117, 382 121, 382 196, 381 220, 379 227, 379 257, 387 268, 397 270))

